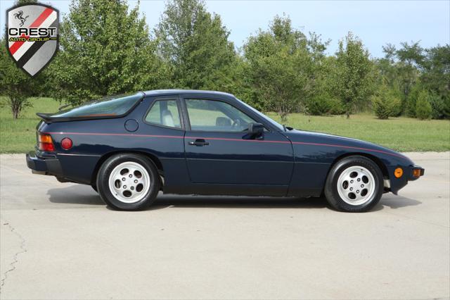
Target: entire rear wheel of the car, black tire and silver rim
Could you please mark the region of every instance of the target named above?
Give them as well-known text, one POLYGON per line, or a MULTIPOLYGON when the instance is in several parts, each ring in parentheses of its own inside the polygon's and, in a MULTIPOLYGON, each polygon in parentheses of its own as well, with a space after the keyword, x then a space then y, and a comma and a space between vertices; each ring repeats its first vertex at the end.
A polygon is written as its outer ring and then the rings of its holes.
POLYGON ((153 162, 145 156, 117 154, 101 165, 96 186, 101 199, 111 208, 139 211, 155 201, 160 178, 153 162))

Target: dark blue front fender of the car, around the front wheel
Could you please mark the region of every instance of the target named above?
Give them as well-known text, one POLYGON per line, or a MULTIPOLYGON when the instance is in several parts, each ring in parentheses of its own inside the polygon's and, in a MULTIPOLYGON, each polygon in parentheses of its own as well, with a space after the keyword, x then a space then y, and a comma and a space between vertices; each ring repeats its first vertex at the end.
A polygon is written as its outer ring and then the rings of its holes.
POLYGON ((389 180, 389 190, 397 194, 408 180, 413 161, 392 149, 358 139, 293 130, 284 132, 293 143, 295 167, 290 184, 290 195, 309 189, 309 194, 319 196, 323 191, 328 172, 334 163, 345 156, 363 155, 372 158, 389 180), (404 176, 394 177, 396 168, 404 169, 404 176))

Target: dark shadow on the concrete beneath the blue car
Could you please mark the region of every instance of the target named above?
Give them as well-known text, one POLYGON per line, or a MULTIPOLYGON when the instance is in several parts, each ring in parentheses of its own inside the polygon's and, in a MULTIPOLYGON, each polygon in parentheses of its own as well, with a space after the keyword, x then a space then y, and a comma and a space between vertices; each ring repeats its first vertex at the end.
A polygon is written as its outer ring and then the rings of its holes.
MULTIPOLYGON (((71 185, 70 187, 49 189, 49 201, 56 204, 101 205, 103 200, 87 185, 71 185)), ((372 211, 380 211, 385 206, 393 209, 416 206, 422 202, 404 196, 385 194, 380 203, 372 211)), ((266 196, 192 196, 158 194, 149 211, 168 207, 186 208, 330 208, 324 197, 266 197, 266 196)), ((331 208, 330 208, 331 209, 331 208)))

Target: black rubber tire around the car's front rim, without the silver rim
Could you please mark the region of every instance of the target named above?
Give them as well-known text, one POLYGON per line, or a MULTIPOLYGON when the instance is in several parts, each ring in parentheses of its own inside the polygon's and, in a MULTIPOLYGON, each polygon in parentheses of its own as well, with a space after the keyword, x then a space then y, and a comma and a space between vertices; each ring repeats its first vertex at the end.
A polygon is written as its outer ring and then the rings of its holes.
POLYGON ((381 170, 376 163, 364 156, 348 156, 346 158, 342 158, 342 160, 338 161, 338 163, 333 165, 333 168, 331 168, 326 180, 324 193, 330 206, 333 206, 336 210, 347 211, 350 213, 362 213, 365 211, 370 211, 376 204, 378 204, 381 196, 383 195, 383 190, 383 173, 381 173, 381 170), (373 176, 375 183, 373 194, 368 196, 368 199, 362 204, 349 204, 342 199, 338 192, 338 180, 340 175, 352 166, 361 166, 366 168, 366 170, 368 170, 373 176))

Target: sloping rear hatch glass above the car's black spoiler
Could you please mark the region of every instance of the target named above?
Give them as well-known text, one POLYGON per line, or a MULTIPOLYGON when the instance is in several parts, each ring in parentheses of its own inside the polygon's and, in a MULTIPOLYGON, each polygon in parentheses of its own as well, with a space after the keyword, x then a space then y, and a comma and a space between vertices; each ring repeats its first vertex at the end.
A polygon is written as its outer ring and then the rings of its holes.
POLYGON ((69 108, 51 115, 51 118, 86 118, 119 116, 127 113, 143 97, 142 93, 108 96, 69 108))

